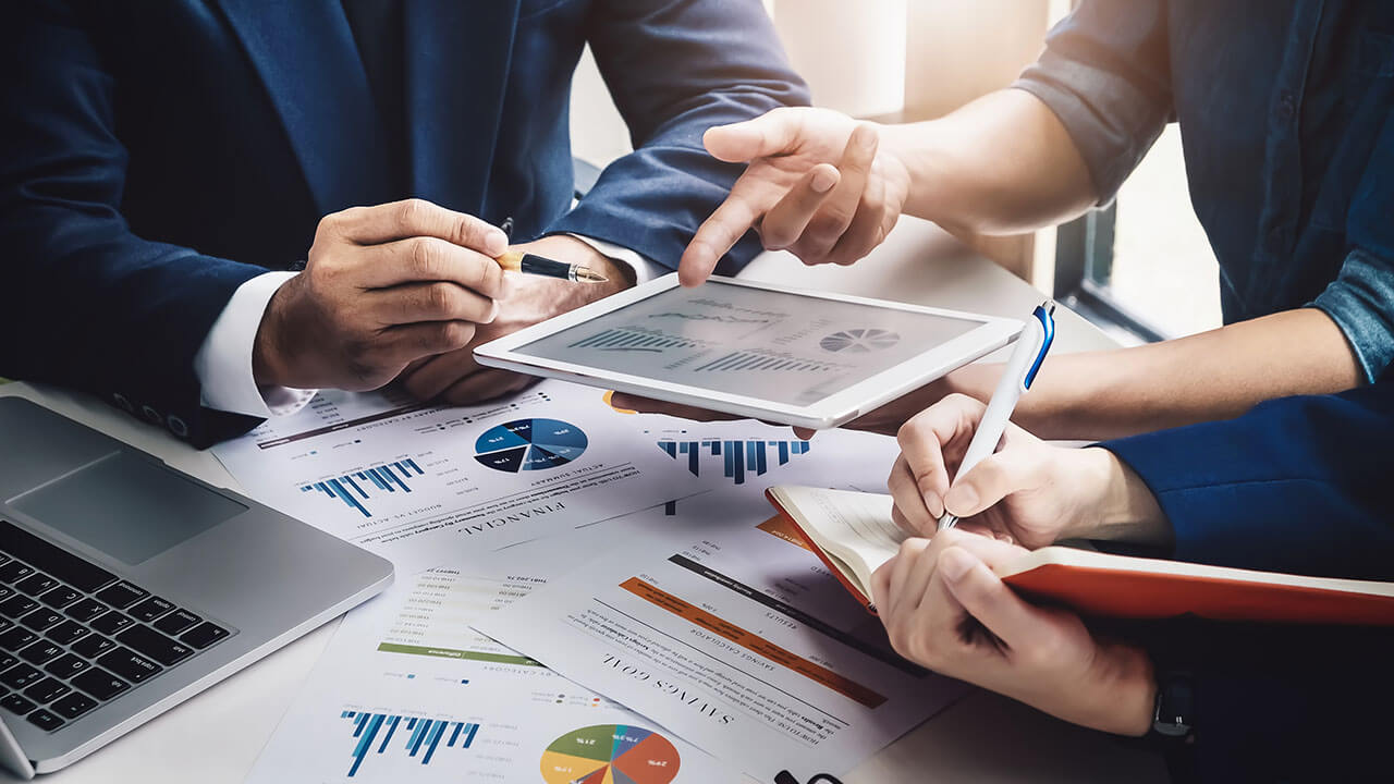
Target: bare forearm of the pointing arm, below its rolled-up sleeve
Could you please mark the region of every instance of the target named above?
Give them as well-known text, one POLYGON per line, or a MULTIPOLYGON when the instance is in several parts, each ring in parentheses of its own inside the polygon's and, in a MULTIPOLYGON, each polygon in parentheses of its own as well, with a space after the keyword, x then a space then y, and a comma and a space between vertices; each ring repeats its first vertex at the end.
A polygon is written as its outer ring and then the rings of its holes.
POLYGON ((887 126, 881 140, 909 179, 905 212, 951 232, 1029 232, 1098 201, 1065 126, 1020 89, 993 92, 938 120, 887 126))

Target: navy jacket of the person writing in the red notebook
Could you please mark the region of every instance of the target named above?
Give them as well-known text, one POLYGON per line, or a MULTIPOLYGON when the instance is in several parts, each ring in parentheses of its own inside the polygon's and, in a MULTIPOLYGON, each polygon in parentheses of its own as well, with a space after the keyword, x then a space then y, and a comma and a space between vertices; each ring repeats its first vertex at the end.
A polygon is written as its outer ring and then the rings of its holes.
MULTIPOLYGON (((1157 497, 1172 558, 1394 580, 1391 445, 1387 374, 1103 446, 1157 497)), ((1178 619, 1118 632, 1195 678, 1196 742, 1172 755, 1177 780, 1387 778, 1394 631, 1178 619)))

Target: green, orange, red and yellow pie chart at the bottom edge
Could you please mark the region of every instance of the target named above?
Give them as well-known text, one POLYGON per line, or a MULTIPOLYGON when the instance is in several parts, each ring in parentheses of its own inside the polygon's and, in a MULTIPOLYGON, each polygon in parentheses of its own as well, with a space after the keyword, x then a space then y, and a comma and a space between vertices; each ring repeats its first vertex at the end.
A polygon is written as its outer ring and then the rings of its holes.
POLYGON ((597 724, 567 732, 542 752, 546 784, 669 784, 677 749, 643 727, 597 724))

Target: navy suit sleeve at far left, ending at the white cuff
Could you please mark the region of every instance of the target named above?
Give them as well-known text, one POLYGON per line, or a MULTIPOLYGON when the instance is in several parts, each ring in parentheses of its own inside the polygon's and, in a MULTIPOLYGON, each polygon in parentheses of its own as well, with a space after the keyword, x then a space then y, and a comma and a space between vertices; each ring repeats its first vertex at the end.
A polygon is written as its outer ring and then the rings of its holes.
POLYGON ((265 269, 127 226, 116 91, 84 24, 56 3, 0 18, 0 371, 98 393, 206 446, 256 420, 201 406, 194 354, 265 269))

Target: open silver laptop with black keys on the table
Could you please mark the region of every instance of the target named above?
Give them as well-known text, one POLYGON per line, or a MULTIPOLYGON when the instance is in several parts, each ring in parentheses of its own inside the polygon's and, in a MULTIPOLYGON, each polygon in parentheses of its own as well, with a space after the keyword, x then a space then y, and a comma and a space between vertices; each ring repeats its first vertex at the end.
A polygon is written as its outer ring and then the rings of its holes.
POLYGON ((392 564, 0 398, 0 763, 71 764, 367 601, 392 564))

